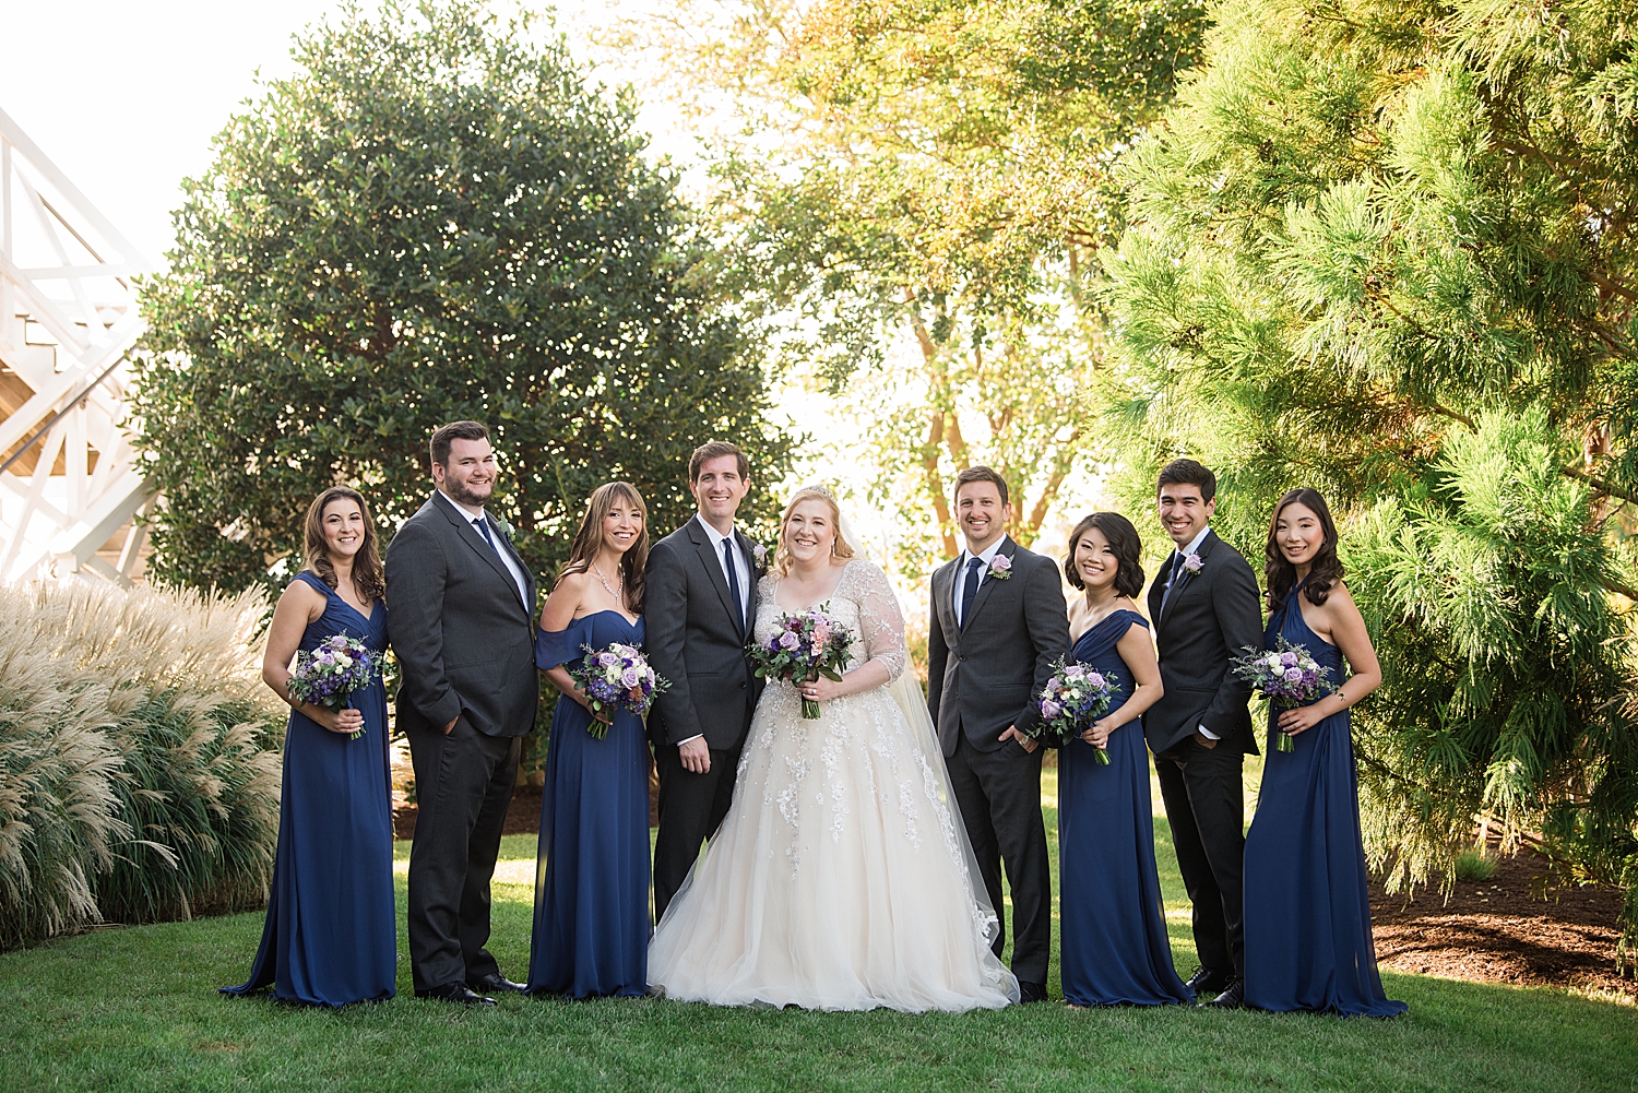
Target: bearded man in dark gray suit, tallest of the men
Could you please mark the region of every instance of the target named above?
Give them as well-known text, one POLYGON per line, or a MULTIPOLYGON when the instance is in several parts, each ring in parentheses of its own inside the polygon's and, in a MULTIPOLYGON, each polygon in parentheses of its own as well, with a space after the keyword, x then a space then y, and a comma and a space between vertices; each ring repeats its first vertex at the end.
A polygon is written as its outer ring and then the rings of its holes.
POLYGON ((523 990, 490 939, 490 878, 518 782, 519 737, 534 728, 534 578, 495 490, 488 429, 432 434, 437 490, 387 547, 387 621, 398 654, 398 726, 414 762, 410 962, 418 998, 495 1005, 523 990))

